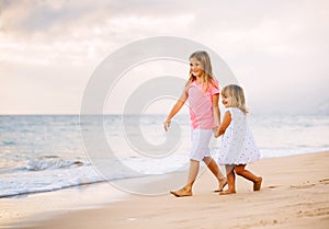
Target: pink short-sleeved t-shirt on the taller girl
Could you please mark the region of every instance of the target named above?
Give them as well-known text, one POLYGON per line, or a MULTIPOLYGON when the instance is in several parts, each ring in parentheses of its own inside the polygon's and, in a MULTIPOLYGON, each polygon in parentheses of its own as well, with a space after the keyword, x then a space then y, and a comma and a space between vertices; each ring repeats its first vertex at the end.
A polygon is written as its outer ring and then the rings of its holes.
POLYGON ((204 92, 202 83, 198 84, 195 81, 193 81, 186 90, 192 128, 214 128, 213 95, 219 94, 219 90, 209 83, 207 91, 204 92))

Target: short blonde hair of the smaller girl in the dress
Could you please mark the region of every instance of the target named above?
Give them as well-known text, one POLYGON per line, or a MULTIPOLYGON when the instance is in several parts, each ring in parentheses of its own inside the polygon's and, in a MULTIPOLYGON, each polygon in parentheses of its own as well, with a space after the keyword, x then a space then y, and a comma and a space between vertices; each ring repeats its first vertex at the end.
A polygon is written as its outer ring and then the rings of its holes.
POLYGON ((245 114, 249 111, 246 107, 246 99, 243 89, 237 84, 229 84, 223 88, 222 94, 231 96, 231 106, 241 110, 245 114))

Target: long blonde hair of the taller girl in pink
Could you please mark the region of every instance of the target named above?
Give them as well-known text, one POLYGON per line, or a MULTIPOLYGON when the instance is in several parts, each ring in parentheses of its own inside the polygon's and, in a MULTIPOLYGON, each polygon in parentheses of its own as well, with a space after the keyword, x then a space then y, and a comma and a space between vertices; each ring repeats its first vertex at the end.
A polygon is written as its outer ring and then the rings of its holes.
MULTIPOLYGON (((201 62, 201 68, 203 70, 203 76, 202 76, 202 83, 203 83, 203 89, 204 91, 208 90, 209 83, 212 83, 215 88, 218 89, 217 82, 214 79, 213 75, 213 68, 212 68, 212 62, 209 55, 204 51, 204 50, 197 50, 191 54, 189 59, 195 58, 197 61, 201 62)), ((196 78, 192 75, 192 71, 190 69, 190 75, 189 75, 189 80, 186 82, 186 85, 190 85, 196 78)))

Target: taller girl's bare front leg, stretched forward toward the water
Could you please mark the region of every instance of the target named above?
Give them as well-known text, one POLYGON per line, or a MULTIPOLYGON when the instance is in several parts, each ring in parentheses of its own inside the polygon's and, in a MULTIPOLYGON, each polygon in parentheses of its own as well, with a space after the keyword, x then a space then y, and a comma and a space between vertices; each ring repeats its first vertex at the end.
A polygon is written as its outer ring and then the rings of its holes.
POLYGON ((192 196, 192 186, 195 182, 197 172, 198 172, 200 162, 195 160, 190 160, 190 171, 186 185, 178 191, 170 191, 172 195, 175 197, 183 197, 183 196, 192 196))

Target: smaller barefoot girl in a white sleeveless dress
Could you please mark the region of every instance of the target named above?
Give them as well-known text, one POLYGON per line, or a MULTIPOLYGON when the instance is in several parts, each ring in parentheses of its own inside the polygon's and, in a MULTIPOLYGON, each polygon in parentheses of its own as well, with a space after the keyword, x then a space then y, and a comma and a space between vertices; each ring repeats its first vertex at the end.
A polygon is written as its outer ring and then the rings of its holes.
POLYGON ((246 164, 260 158, 252 134, 247 124, 245 94, 236 84, 226 85, 222 90, 223 104, 227 108, 215 137, 223 135, 219 147, 218 164, 225 164, 228 190, 220 195, 236 193, 236 174, 253 182, 253 191, 261 188, 262 178, 246 170, 246 164))

